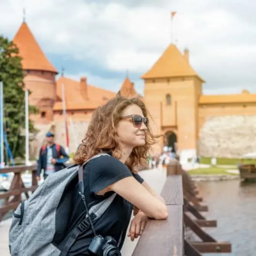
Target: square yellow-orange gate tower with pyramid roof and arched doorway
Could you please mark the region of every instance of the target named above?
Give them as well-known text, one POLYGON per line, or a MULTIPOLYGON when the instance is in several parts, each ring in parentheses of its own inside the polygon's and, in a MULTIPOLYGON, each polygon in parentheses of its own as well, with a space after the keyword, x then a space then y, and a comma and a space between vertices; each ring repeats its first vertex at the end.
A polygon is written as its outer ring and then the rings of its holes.
POLYGON ((189 51, 184 55, 170 44, 153 67, 142 76, 145 81, 144 101, 152 115, 155 134, 164 134, 160 147, 196 150, 198 140, 198 99, 204 80, 189 65, 189 51))

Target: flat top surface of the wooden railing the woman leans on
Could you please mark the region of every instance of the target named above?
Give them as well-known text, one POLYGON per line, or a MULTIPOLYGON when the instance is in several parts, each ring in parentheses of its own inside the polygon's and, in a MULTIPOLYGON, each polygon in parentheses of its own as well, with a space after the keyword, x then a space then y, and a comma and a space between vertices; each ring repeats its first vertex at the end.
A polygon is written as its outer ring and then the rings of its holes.
POLYGON ((167 177, 161 196, 168 207, 168 220, 149 220, 132 256, 184 255, 182 177, 167 177))

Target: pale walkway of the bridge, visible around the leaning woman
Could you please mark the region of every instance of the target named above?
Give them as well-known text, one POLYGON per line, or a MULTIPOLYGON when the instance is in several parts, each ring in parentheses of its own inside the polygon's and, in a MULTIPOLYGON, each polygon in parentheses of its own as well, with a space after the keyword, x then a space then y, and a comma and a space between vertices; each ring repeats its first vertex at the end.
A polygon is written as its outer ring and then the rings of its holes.
MULTIPOLYGON (((146 170, 140 172, 141 177, 157 192, 161 193, 166 180, 166 171, 162 169, 146 170)), ((0 255, 8 256, 10 255, 8 249, 8 231, 10 228, 11 219, 2 221, 0 223, 0 255)), ((129 228, 128 228, 129 230, 129 228)), ((132 242, 129 237, 125 240, 124 246, 122 248, 122 256, 131 256, 132 252, 138 239, 132 242)), ((39 255, 38 255, 39 256, 39 255)))

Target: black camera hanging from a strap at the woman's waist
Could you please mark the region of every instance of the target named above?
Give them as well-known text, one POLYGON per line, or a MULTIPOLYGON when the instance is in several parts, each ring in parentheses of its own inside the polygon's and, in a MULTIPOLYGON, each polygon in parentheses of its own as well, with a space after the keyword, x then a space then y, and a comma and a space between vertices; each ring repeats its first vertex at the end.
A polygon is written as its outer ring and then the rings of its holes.
POLYGON ((116 247, 116 241, 111 236, 106 236, 105 238, 100 235, 95 236, 88 250, 97 256, 121 256, 116 247))

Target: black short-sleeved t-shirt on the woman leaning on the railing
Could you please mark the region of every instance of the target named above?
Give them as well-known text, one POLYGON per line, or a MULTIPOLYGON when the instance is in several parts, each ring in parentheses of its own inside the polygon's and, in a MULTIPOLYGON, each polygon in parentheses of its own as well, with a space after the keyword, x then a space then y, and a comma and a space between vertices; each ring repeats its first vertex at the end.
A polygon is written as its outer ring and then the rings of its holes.
MULTIPOLYGON (((109 185, 126 177, 133 177, 142 183, 143 179, 138 174, 133 174, 121 161, 112 156, 100 156, 92 159, 84 166, 84 195, 88 207, 98 204, 113 195, 113 191, 109 191, 103 196, 96 195, 100 190, 107 188, 109 185)), ((70 219, 69 232, 72 231, 81 221, 84 220, 86 209, 84 207, 81 196, 78 194, 78 185, 74 191, 74 200, 72 205, 72 216, 70 219)), ((109 205, 104 214, 96 220, 94 224, 97 235, 103 237, 112 236, 116 242, 121 237, 119 249, 121 250, 125 239, 125 233, 129 225, 132 213, 132 204, 116 195, 115 199, 109 205)), ((91 255, 88 247, 93 239, 92 228, 82 232, 70 248, 68 255, 91 255)))

